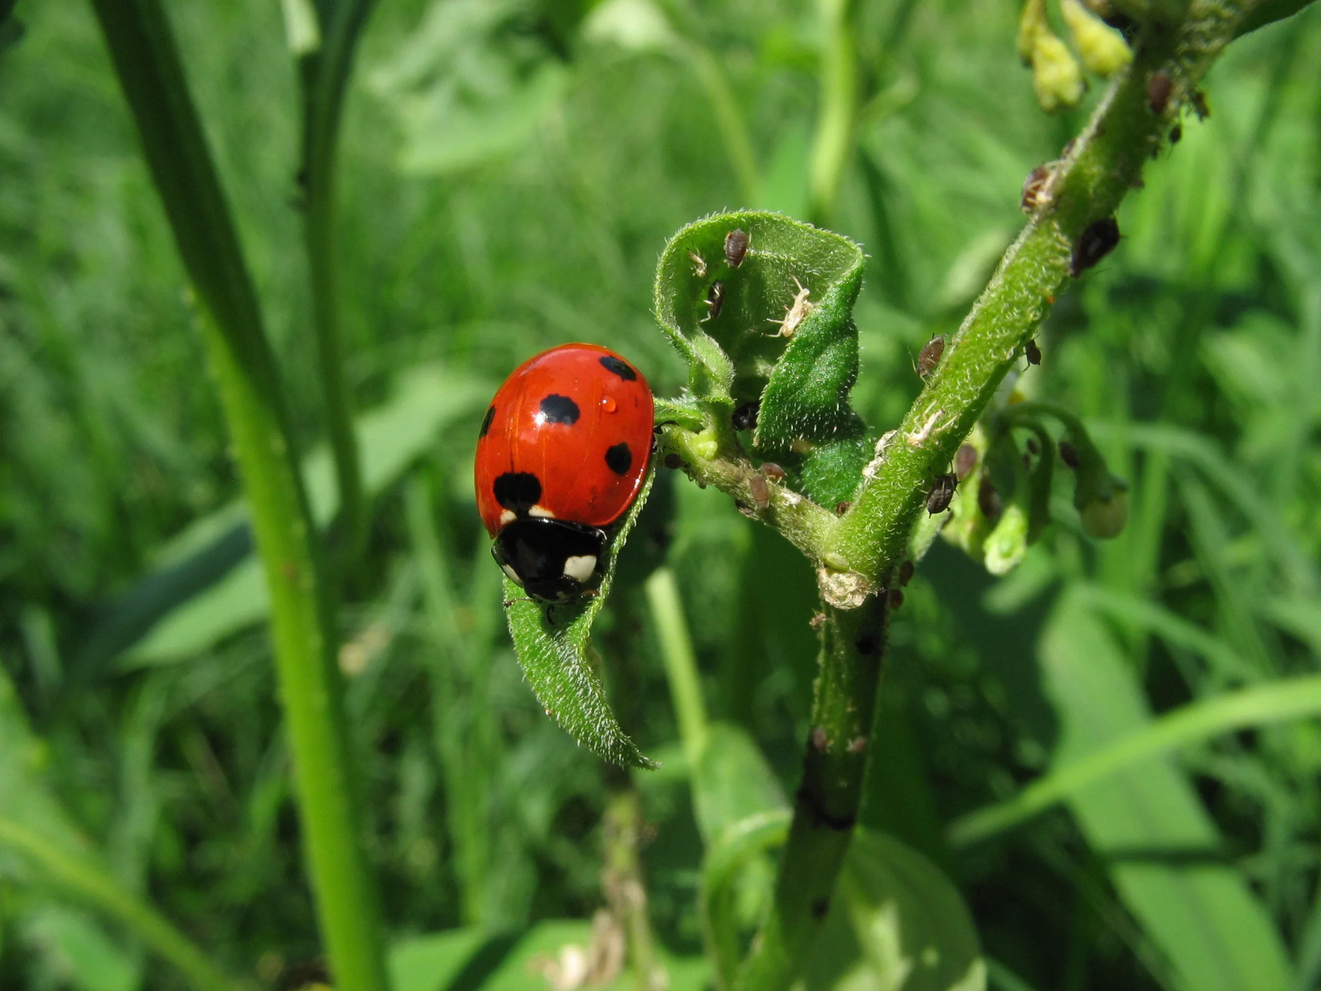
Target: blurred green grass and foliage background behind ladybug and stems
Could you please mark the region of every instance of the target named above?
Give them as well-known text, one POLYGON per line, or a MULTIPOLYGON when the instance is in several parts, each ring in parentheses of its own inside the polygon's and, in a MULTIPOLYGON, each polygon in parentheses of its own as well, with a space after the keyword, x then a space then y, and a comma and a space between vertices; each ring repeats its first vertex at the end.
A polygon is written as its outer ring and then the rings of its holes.
MULTIPOLYGON (((280 5, 169 13, 325 522, 280 5)), ((0 682, 0 809, 48 803, 232 973, 289 984, 317 937, 264 597, 185 275, 90 9, 22 0, 17 16, 26 32, 0 54, 0 678, 16 690, 0 682)), ((812 4, 378 4, 341 153, 374 505, 339 659, 396 938, 519 933, 602 904, 617 781, 543 716, 503 630, 470 481, 489 395, 567 341, 678 392, 650 314, 664 240, 766 207, 871 255, 855 406, 893 428, 917 350, 958 325, 1022 223, 1024 177, 1102 89, 1045 116, 1016 20, 1008 0, 861 0, 859 147, 834 214, 812 218, 812 4)), ((1016 572, 938 543, 896 614, 864 821, 954 879, 993 986, 1277 986, 1226 983, 1225 947, 1263 974, 1283 947, 1299 991, 1321 974, 1316 720, 1143 761, 984 843, 943 839, 1153 714, 1317 670, 1318 66, 1314 11, 1231 46, 1211 116, 1149 164, 1119 248, 1058 301, 1045 361, 1018 381, 1095 427, 1132 484, 1125 532, 1087 540, 1061 489, 1061 522, 1016 572)), ((641 581, 674 569, 707 706, 753 733, 786 794, 815 592, 727 497, 662 473, 653 499, 596 642, 625 728, 666 764, 634 774, 646 883, 659 941, 691 957, 701 843, 641 581)), ((745 877, 749 922, 770 863, 745 877)), ((0 850, 0 988, 178 980, 0 850)))

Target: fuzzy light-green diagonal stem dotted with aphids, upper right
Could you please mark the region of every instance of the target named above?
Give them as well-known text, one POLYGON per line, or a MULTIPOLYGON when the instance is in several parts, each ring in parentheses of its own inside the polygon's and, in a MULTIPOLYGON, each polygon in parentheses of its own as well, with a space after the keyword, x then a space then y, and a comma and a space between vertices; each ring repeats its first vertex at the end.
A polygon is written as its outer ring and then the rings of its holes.
POLYGON ((841 519, 835 550, 853 571, 882 584, 889 580, 904 559, 931 480, 950 464, 1070 277, 1075 242, 1090 225, 1111 217, 1137 182, 1172 115, 1234 38, 1247 7, 1196 0, 1178 29, 1143 29, 1133 62, 1116 75, 1055 165, 1036 214, 946 344, 884 460, 841 519), (1156 71, 1168 73, 1177 86, 1161 114, 1147 103, 1147 82, 1156 71))

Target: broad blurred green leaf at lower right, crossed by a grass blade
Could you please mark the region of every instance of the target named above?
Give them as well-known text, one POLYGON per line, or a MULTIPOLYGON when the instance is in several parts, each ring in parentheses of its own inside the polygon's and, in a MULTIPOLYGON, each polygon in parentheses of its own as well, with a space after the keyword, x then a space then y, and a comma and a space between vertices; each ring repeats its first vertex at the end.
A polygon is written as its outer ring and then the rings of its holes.
MULTIPOLYGON (((1075 593, 1061 597, 1040 657, 1061 719, 1055 770, 1149 725, 1151 711, 1123 653, 1075 593)), ((1219 832, 1168 760, 1145 760, 1098 780, 1073 794, 1069 807, 1108 862, 1124 904, 1169 961, 1178 987, 1291 987, 1269 914, 1236 869, 1217 863, 1219 832), (1205 860, 1188 864, 1189 852, 1198 851, 1205 860)))

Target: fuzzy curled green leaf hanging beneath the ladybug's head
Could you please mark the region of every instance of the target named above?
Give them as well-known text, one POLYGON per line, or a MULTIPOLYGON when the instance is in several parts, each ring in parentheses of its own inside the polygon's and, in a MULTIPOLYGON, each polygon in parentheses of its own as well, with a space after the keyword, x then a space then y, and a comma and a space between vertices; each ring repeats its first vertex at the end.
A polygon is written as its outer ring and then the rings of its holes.
POLYGON ((620 548, 647 501, 653 478, 654 473, 649 473, 637 501, 610 539, 605 577, 597 595, 550 606, 528 599, 522 588, 505 579, 509 632, 518 662, 546 715, 592 753, 621 766, 654 768, 655 761, 642 756, 620 728, 605 698, 598 658, 589 641, 592 621, 610 592, 620 548))

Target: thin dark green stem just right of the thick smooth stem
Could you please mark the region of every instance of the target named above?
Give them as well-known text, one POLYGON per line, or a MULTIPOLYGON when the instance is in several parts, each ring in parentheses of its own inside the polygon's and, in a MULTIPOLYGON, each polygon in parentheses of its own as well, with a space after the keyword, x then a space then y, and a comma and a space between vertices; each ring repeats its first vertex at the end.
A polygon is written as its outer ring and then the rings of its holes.
POLYGON ((343 332, 339 324, 338 238, 336 235, 336 155, 343 94, 358 36, 371 0, 324 4, 322 45, 301 58, 304 244, 316 332, 317 370, 339 488, 343 560, 351 562, 366 539, 367 505, 362 489, 358 439, 353 429, 353 396, 343 375, 343 332))

